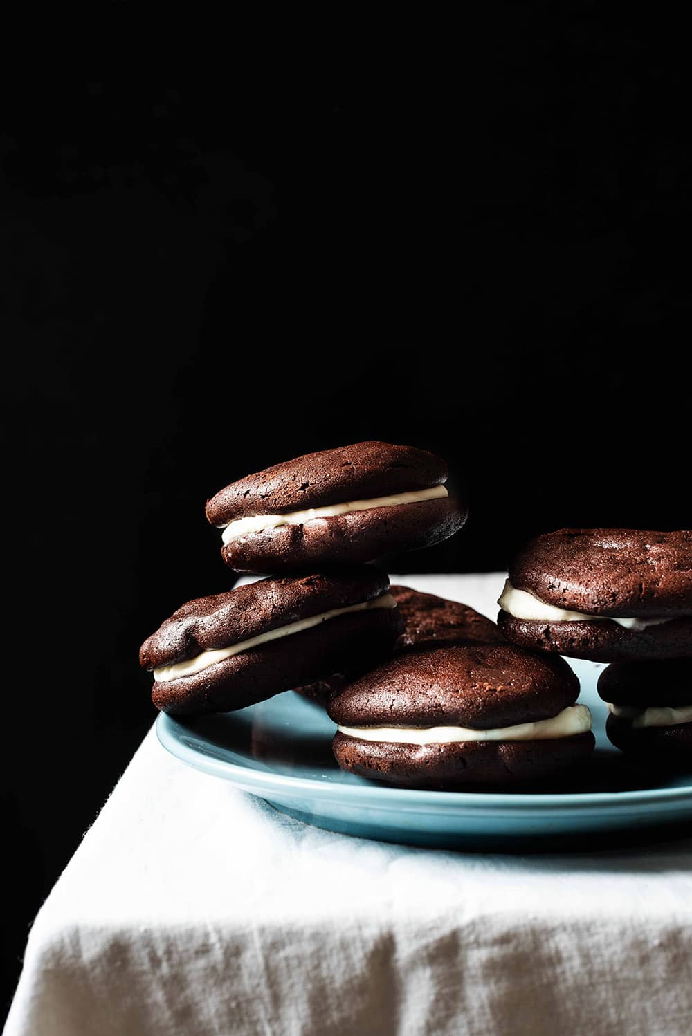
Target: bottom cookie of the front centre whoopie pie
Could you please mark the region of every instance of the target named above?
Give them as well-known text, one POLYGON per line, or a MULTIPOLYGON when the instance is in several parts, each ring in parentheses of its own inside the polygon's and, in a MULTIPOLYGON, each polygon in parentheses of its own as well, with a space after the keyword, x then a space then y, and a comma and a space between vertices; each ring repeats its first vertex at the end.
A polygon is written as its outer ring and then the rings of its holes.
POLYGON ((466 741, 406 745, 362 741, 337 732, 333 751, 343 770, 400 787, 456 788, 523 783, 587 758, 590 732, 546 741, 466 741))

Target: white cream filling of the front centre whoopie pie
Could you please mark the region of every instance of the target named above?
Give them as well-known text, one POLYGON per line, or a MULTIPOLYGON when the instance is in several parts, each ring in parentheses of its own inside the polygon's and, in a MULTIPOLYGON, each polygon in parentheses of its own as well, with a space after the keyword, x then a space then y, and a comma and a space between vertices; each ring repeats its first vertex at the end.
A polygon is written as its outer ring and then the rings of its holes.
POLYGON ((592 728, 586 706, 570 706, 550 719, 516 726, 475 730, 466 726, 340 726, 342 733, 359 741, 385 741, 398 745, 456 745, 462 741, 547 741, 571 738, 592 728))

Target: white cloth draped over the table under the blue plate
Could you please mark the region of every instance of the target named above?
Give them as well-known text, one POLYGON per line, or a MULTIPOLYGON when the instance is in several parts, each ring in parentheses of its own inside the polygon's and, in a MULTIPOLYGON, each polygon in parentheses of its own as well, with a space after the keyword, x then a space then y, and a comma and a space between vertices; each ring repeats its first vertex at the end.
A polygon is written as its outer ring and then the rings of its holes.
MULTIPOLYGON (((495 616, 502 577, 393 577, 495 616)), ((293 821, 149 731, 31 930, 6 1036, 689 1036, 692 839, 426 851, 293 821)))

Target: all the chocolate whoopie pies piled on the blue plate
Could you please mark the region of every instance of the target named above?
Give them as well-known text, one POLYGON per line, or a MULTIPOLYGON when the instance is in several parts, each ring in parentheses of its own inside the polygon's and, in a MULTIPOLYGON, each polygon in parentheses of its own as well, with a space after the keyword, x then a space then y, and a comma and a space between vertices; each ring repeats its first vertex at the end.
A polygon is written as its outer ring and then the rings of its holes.
POLYGON ((689 759, 689 533, 563 529, 510 568, 498 626, 391 586, 375 564, 453 536, 465 505, 444 461, 385 442, 307 454, 208 500, 222 557, 265 578, 190 601, 142 645, 156 708, 242 709, 291 688, 337 723, 341 767, 414 787, 543 777, 594 749, 560 657, 599 683, 626 750, 689 759))

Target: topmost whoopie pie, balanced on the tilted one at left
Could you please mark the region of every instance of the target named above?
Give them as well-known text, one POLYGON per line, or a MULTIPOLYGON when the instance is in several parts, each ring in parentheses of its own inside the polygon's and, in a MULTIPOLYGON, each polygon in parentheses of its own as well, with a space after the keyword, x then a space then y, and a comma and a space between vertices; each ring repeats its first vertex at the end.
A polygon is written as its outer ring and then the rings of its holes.
POLYGON ((466 507, 444 461, 425 450, 356 442, 306 454, 226 486, 207 501, 237 572, 372 562, 453 536, 466 507))

